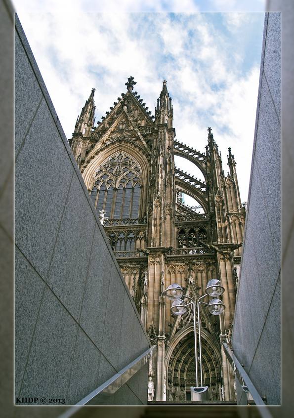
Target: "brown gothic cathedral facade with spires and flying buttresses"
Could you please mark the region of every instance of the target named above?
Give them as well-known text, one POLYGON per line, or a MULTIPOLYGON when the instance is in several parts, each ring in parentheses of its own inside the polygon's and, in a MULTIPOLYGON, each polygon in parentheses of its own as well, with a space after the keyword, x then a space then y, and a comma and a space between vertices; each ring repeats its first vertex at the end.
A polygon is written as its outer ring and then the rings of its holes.
POLYGON ((197 385, 193 310, 174 316, 164 290, 178 283, 197 302, 214 278, 225 288, 226 309, 214 317, 202 308, 196 318, 203 383, 210 399, 234 400, 234 375, 221 344, 230 342, 246 215, 234 156, 229 148, 225 175, 210 128, 203 152, 175 139, 166 81, 155 116, 133 91, 134 84, 130 77, 126 93, 96 127, 92 89, 69 143, 144 327, 158 348, 149 366, 153 400, 189 400, 190 386, 197 385), (205 181, 176 168, 174 156, 194 163, 205 181), (183 195, 194 198, 202 210, 186 206, 183 195))

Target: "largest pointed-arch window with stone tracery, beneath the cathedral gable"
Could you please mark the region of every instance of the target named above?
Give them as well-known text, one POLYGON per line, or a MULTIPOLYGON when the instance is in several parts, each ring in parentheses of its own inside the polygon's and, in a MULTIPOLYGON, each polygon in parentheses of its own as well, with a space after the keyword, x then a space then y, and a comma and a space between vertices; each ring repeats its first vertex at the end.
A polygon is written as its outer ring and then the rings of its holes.
POLYGON ((119 152, 97 170, 91 199, 97 212, 110 219, 139 217, 141 168, 129 155, 119 152))

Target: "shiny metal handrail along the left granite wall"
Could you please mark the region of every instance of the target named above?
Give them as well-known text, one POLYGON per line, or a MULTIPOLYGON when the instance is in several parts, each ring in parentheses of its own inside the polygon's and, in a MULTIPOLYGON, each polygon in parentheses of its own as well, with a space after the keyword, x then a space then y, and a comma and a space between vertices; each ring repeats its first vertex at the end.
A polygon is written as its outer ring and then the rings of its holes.
MULTIPOLYGON (((76 406, 67 410, 59 418, 72 417, 82 405, 103 405, 105 401, 120 389, 135 373, 137 373, 157 352, 157 345, 148 348, 143 354, 129 363, 124 369, 112 376, 105 383, 85 396, 76 406)), ((147 386, 146 386, 147 390, 147 386)))

